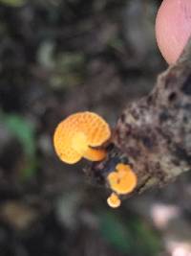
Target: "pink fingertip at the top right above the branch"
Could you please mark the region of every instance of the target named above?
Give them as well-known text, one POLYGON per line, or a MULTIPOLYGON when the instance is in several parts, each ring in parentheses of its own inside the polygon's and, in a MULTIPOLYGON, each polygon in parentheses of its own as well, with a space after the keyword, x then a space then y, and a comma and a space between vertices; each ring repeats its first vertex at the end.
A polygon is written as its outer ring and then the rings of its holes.
POLYGON ((159 50, 169 64, 176 62, 191 35, 191 1, 164 0, 156 19, 159 50))

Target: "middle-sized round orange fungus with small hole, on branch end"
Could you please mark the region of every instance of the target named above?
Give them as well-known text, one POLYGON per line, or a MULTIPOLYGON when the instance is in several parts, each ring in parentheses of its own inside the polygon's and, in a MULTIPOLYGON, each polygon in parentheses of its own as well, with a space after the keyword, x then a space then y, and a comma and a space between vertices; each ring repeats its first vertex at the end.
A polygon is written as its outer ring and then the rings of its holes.
POLYGON ((116 171, 108 175, 108 182, 118 195, 131 193, 137 185, 137 175, 129 165, 117 164, 116 171))

